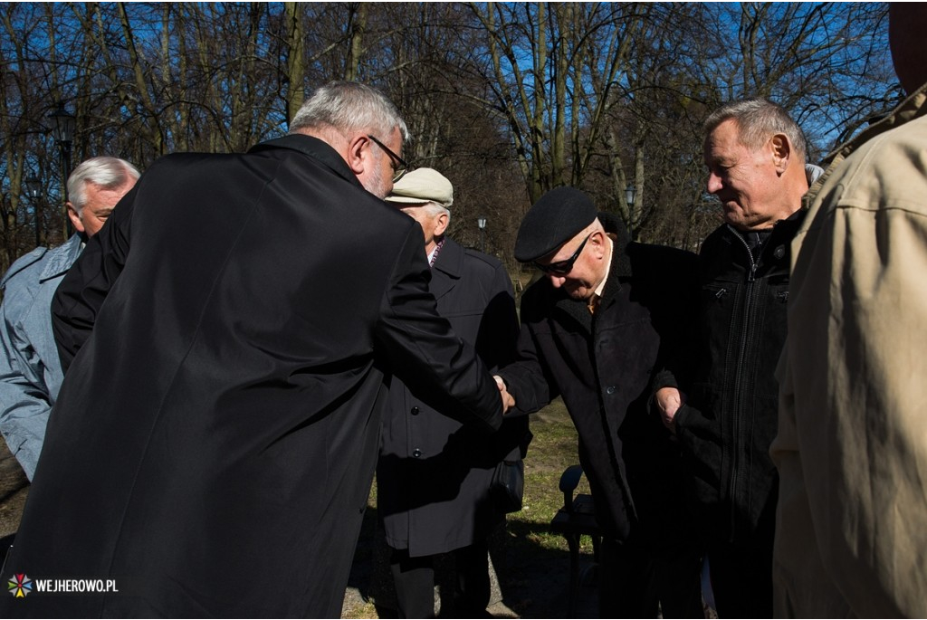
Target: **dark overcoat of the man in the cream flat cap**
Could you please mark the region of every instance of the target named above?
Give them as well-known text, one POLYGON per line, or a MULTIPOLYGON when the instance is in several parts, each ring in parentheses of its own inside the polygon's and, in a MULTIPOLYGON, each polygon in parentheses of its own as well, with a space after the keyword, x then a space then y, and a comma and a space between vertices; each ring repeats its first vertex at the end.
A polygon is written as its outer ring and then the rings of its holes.
MULTIPOLYGON (((512 281, 502 263, 450 238, 431 270, 438 312, 492 368, 511 361, 518 336, 512 281)), ((485 540, 503 513, 489 500, 497 463, 521 458, 527 418, 488 436, 430 404, 426 389, 394 377, 376 470, 387 543, 416 557, 485 540), (514 452, 514 454, 513 454, 514 452)))

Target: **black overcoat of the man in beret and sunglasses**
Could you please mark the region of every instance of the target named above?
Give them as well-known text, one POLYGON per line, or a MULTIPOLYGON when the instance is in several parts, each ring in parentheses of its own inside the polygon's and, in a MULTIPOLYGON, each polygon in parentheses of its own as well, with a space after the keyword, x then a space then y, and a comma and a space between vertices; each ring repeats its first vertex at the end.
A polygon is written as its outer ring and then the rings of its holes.
POLYGON ((652 379, 689 321, 696 257, 617 235, 594 317, 550 278, 522 297, 517 361, 502 369, 518 411, 562 396, 576 424, 579 461, 610 538, 655 545, 686 539, 679 446, 649 411, 652 379))

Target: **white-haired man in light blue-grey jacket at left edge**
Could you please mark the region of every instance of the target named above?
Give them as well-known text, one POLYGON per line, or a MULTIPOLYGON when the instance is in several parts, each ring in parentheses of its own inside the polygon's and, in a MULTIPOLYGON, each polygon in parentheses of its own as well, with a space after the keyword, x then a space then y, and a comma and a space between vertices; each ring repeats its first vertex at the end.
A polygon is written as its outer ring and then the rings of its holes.
POLYGON ((48 414, 64 378, 52 335, 51 302, 58 284, 139 172, 128 161, 84 161, 68 179, 68 215, 77 231, 59 247, 36 247, 0 280, 0 433, 32 480, 48 414))

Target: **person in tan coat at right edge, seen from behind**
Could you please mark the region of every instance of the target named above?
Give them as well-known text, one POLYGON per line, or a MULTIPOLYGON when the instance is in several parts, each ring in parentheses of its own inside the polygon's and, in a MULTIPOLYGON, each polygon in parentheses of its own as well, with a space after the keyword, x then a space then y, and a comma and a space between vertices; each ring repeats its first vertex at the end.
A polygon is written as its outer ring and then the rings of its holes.
POLYGON ((889 31, 910 95, 832 156, 793 243, 777 616, 927 616, 927 6, 889 31))

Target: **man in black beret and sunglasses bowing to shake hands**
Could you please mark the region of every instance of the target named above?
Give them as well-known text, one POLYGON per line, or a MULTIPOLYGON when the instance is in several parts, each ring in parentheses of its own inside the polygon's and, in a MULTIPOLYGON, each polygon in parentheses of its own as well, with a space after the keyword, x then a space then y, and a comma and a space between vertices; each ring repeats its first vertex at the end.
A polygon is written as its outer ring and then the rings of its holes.
POLYGON ((554 189, 527 212, 515 258, 548 277, 522 297, 516 412, 562 396, 602 526, 602 617, 701 617, 701 558, 682 501, 679 449, 649 411, 654 370, 686 329, 695 257, 632 243, 589 196, 554 189))

